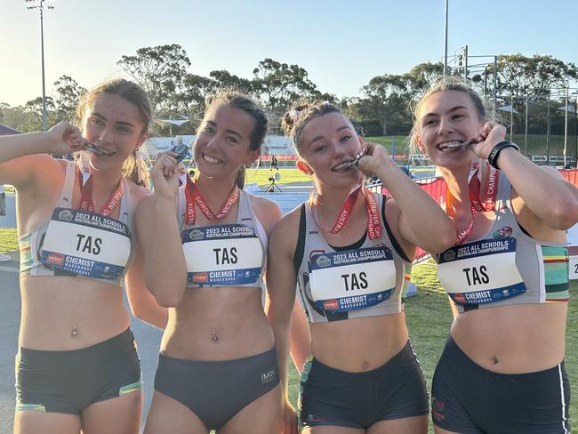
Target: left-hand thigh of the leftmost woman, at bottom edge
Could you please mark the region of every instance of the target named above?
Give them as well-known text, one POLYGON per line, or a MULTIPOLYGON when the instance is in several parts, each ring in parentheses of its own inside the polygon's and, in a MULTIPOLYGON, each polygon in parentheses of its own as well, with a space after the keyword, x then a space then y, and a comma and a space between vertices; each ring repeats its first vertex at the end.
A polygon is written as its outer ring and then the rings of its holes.
POLYGON ((80 417, 76 414, 26 410, 14 414, 14 434, 79 434, 80 417))

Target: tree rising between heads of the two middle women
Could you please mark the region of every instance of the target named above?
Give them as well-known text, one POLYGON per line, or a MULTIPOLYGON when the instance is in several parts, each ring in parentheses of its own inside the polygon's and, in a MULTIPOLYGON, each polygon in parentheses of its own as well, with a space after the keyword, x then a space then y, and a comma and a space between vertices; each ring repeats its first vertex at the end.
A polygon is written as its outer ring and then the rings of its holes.
POLYGON ((318 98, 317 86, 309 80, 307 71, 298 65, 288 65, 265 59, 253 69, 255 92, 263 104, 277 115, 285 112, 300 98, 318 98))

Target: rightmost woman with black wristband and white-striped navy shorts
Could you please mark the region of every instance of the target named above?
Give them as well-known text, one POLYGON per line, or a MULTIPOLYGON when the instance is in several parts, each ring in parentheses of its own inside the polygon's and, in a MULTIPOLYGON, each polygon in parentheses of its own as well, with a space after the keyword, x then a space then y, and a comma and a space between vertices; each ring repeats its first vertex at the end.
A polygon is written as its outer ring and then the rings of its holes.
POLYGON ((564 369, 576 189, 489 122, 478 94, 446 80, 415 109, 413 142, 446 180, 458 243, 438 255, 454 325, 432 387, 437 433, 570 432, 564 369))

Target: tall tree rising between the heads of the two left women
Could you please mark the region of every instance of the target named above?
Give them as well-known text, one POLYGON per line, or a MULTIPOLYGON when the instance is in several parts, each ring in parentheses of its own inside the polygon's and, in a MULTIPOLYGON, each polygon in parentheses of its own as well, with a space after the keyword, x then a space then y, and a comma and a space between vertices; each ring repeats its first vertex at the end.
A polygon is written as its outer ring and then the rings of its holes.
POLYGON ((136 55, 122 56, 116 62, 140 83, 149 94, 157 114, 178 112, 174 102, 181 92, 183 78, 190 66, 187 52, 179 44, 139 48, 136 55))

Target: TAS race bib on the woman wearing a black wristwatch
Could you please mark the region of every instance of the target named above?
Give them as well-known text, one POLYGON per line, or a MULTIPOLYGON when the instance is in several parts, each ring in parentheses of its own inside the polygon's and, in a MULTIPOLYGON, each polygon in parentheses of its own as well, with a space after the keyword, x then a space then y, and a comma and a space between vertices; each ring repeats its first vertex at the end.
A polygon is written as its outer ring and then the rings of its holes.
POLYGON ((516 265, 516 239, 485 239, 441 253, 438 277, 459 304, 485 304, 526 293, 516 265))

